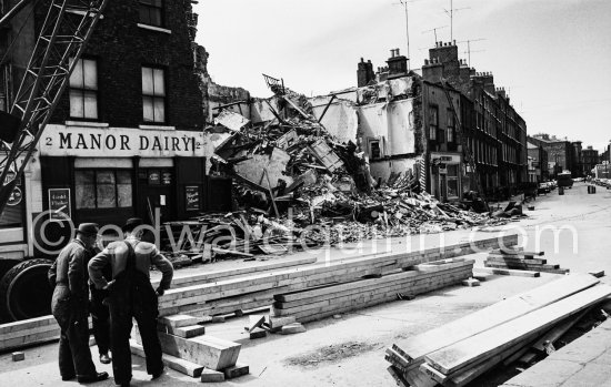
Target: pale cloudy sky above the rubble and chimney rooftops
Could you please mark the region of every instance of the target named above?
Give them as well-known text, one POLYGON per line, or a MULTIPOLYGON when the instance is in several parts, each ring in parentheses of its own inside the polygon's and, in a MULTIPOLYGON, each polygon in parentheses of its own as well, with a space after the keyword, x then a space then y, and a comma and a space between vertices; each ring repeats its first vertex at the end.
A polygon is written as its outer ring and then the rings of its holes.
MULTIPOLYGON (((407 54, 399 0, 200 0, 198 42, 214 82, 269 96, 262 73, 308 96, 357 84, 357 63, 407 54)), ((454 0, 453 39, 527 121, 583 147, 611 141, 611 0, 454 0), (482 40, 479 40, 482 39, 482 40)), ((450 0, 408 2, 411 68, 450 41, 450 0)))

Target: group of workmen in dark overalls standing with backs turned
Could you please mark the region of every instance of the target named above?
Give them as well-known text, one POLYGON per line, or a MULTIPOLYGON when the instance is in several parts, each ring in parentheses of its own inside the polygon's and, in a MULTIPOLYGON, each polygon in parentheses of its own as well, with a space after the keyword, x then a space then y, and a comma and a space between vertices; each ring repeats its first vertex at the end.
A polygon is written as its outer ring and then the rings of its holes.
POLYGON ((170 287, 173 267, 156 245, 141 241, 143 230, 141 218, 128 220, 122 227, 124 240, 112 242, 100 252, 97 249, 98 225, 80 224, 74 240, 51 266, 49 282, 54 287, 51 310, 61 329, 59 369, 62 380, 76 378, 86 384, 109 377, 108 373, 98 373, 91 357, 90 313, 100 361, 112 361, 117 385, 129 386, 132 377, 129 344, 132 318, 142 338, 147 373, 152 379, 163 375, 157 335, 157 298, 170 287), (151 265, 162 274, 157 289, 149 277, 151 265))

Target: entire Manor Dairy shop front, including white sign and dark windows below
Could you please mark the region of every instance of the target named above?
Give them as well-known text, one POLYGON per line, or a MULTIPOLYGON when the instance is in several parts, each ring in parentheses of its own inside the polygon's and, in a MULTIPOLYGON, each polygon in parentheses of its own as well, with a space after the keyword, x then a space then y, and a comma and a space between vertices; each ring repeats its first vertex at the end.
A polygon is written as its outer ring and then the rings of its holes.
POLYGON ((203 211, 201 132, 50 125, 41 141, 43 208, 58 223, 154 224, 203 211))

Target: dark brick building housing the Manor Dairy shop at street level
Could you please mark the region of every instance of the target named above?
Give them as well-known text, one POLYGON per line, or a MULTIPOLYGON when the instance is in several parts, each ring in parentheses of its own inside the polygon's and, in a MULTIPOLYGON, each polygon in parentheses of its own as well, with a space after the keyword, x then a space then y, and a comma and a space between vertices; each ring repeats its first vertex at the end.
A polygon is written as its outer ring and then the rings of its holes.
MULTIPOLYGON (((32 51, 48 7, 36 3, 33 22, 19 38, 21 52, 32 51)), ((81 16, 70 12, 64 18, 72 21, 81 16)), ((42 234, 48 216, 38 215, 46 211, 76 224, 121 225, 132 216, 153 224, 204 210, 211 146, 202 132, 196 32, 190 0, 108 1, 22 176, 22 221, 4 238, 18 255, 39 255, 28 238, 42 234)), ((23 62, 13 57, 13 65, 23 62)), ((4 90, 4 100, 16 91, 4 90)), ((69 227, 51 221, 44 236, 57 241, 69 227)))

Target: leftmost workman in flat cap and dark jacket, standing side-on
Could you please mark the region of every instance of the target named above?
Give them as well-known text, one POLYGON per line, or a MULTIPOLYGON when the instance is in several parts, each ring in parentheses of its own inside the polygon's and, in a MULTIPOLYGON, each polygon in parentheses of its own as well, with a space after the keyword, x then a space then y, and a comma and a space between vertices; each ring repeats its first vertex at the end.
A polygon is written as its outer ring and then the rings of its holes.
POLYGON ((98 238, 98 226, 82 223, 77 237, 60 252, 49 269, 53 289, 51 310, 61 336, 59 342, 59 370, 62 380, 74 377, 79 383, 100 381, 107 373, 98 373, 89 350, 87 263, 98 238))

